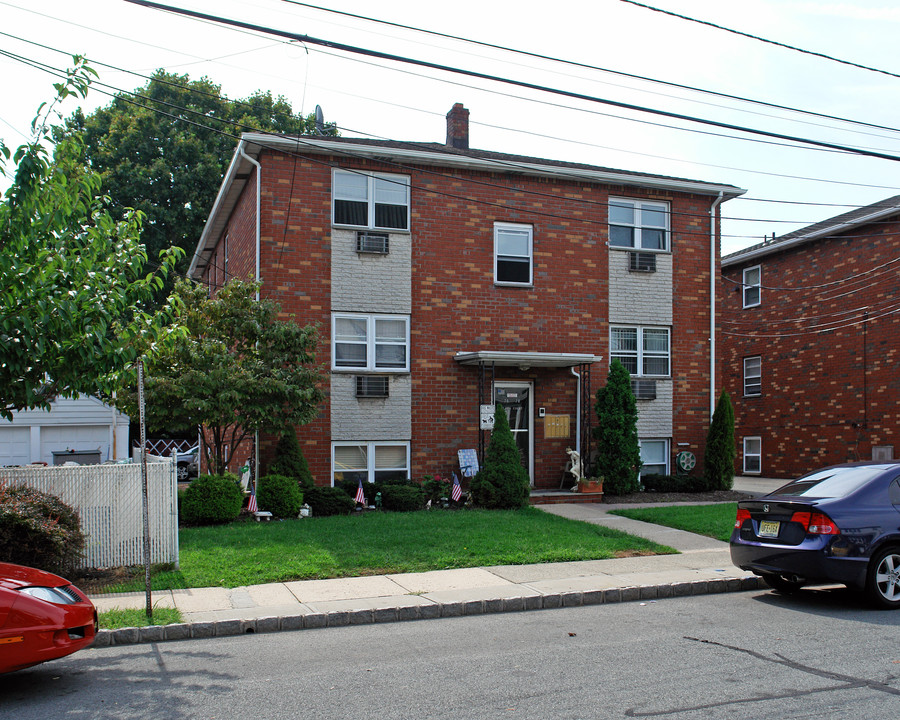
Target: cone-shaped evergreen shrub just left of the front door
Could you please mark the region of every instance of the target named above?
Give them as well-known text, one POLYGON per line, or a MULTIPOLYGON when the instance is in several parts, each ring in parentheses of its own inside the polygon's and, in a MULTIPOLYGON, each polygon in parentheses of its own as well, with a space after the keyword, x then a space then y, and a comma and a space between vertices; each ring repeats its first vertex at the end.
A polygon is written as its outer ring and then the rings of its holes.
POLYGON ((470 486, 472 502, 492 510, 520 508, 528 503, 530 492, 531 481, 509 429, 506 409, 497 403, 484 466, 470 486))

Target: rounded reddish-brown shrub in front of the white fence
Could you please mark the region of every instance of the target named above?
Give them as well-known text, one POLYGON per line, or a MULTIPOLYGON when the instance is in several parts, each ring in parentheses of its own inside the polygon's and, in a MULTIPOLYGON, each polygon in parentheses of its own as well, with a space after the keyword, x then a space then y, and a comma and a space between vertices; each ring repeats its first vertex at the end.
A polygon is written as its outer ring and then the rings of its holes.
POLYGON ((0 483, 0 560, 67 574, 81 560, 78 513, 55 495, 0 483))

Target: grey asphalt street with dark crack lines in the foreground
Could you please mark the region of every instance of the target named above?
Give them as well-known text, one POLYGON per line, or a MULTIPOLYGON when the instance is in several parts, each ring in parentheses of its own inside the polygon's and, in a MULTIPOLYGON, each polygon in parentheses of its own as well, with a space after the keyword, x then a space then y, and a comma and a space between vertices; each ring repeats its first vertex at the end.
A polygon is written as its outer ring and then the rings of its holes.
POLYGON ((144 643, 0 677, 0 717, 884 718, 898 636, 804 590, 144 643))

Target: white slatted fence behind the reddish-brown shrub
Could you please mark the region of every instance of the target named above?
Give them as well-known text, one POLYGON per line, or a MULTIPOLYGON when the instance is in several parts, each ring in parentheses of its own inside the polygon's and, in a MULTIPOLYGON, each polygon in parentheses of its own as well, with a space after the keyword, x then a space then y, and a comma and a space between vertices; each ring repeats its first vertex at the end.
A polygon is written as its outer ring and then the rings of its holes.
MULTIPOLYGON (((0 483, 30 485, 78 511, 85 535, 83 567, 142 565, 144 520, 140 463, 0 468, 0 483)), ((150 562, 178 564, 175 462, 147 463, 150 562)))

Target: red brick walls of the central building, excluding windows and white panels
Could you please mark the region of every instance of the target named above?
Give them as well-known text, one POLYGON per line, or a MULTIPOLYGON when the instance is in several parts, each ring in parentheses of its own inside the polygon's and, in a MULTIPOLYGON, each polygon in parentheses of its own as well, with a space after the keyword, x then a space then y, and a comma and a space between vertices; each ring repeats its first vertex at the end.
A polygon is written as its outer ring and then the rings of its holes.
MULTIPOLYGON (((333 168, 409 177, 411 433, 402 439, 409 443, 412 477, 458 470, 457 451, 478 447, 480 371, 456 362, 458 352, 602 356, 591 369, 591 391, 605 382, 610 256, 624 256, 608 247, 611 195, 670 204, 673 307, 667 324, 672 328, 673 402, 667 440, 671 454, 691 449, 702 458, 711 407, 710 209, 720 192, 734 196, 739 190, 631 173, 616 175, 626 177, 627 184, 601 182, 597 173, 587 170, 583 177, 572 172, 554 177, 550 164, 539 172, 517 170, 500 160, 492 166, 467 166, 459 158, 477 156, 467 150, 442 163, 436 152, 417 155, 420 146, 410 146, 408 157, 398 160, 405 151, 399 144, 386 147, 383 155, 391 159, 380 161, 375 153, 348 157, 339 152, 342 142, 351 141, 331 140, 330 152, 323 140, 315 150, 302 144, 289 147, 287 141, 257 146, 255 156, 262 165, 262 292, 280 303, 285 315, 319 325, 317 361, 329 370, 331 316, 338 307, 331 280, 333 168), (532 286, 495 284, 495 222, 533 228, 532 286)), ((497 157, 490 155, 492 160, 497 157)), ((531 165, 545 162, 530 160, 531 165)), ((221 278, 217 271, 224 267, 226 241, 229 275, 255 272, 257 172, 241 166, 238 156, 233 167, 241 167, 244 177, 239 179, 237 170, 226 177, 225 189, 231 188, 233 195, 230 200, 227 193, 220 197, 198 247, 201 260, 192 266, 195 277, 213 285, 221 278)), ((714 252, 717 259, 717 239, 714 252)), ((538 488, 558 487, 566 448, 576 443, 577 379, 569 367, 509 365, 494 372, 498 380, 534 383, 533 481, 538 488), (539 408, 547 416, 568 416, 569 437, 545 438, 539 408)), ((299 430, 319 484, 331 482, 332 411, 332 399, 326 399, 319 418, 299 430)), ((263 446, 263 470, 270 446, 263 446)))

